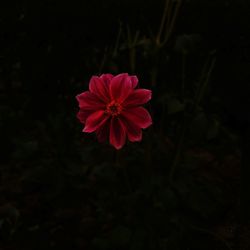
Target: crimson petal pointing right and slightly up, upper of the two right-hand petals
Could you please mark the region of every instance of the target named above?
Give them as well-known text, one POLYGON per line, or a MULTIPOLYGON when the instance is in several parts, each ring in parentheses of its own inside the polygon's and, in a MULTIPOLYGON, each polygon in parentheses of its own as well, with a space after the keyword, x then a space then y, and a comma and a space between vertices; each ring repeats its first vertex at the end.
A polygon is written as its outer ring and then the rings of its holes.
POLYGON ((135 89, 124 101, 124 107, 139 106, 151 99, 152 92, 148 89, 135 89))

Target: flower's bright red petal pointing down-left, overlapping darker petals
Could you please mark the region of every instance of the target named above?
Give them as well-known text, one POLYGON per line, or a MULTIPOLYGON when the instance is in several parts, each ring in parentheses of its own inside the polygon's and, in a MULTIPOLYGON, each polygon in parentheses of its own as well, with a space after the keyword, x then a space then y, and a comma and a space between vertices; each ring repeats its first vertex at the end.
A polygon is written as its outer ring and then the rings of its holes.
POLYGON ((103 110, 98 110, 91 114, 87 120, 83 132, 91 133, 97 130, 102 126, 108 119, 108 116, 104 113, 103 110))

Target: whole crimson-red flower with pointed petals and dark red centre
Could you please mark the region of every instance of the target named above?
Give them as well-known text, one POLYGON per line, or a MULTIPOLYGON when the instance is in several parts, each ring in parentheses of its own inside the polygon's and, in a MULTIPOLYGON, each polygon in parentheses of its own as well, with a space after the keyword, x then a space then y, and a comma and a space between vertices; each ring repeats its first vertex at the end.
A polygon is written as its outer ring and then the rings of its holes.
POLYGON ((96 132, 100 142, 109 137, 116 149, 123 147, 126 137, 131 142, 141 141, 141 129, 149 127, 152 119, 140 105, 151 99, 151 91, 136 89, 137 84, 137 77, 127 73, 93 76, 89 91, 76 96, 83 132, 96 132))

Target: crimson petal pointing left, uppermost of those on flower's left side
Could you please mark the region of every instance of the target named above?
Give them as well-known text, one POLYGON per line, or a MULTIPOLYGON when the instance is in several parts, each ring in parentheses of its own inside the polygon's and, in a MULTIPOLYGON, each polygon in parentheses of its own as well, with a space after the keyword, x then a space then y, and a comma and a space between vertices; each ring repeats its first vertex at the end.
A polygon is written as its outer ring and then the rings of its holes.
POLYGON ((76 96, 79 107, 86 110, 105 109, 106 105, 96 95, 89 91, 85 91, 76 96))

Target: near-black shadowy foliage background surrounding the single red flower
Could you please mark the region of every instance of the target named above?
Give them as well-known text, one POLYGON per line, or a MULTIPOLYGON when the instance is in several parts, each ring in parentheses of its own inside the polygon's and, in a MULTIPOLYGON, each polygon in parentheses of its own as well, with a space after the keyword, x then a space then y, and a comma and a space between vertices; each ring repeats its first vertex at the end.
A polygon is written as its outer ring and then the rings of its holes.
POLYGON ((250 248, 250 2, 182 1, 157 48, 164 4, 2 5, 1 249, 250 248), (76 119, 75 96, 105 72, 153 90, 152 128, 118 155, 76 119))

